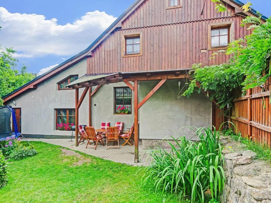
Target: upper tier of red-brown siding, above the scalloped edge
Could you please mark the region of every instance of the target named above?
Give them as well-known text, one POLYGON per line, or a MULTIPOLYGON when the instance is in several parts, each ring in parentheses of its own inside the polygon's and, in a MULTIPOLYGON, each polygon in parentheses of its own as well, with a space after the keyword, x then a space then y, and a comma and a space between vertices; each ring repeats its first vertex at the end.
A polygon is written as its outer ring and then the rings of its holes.
MULTIPOLYGON (((230 17, 230 13, 218 13, 210 0, 180 0, 182 8, 167 8, 168 0, 147 0, 122 22, 122 28, 149 27, 153 25, 173 24, 214 18, 230 17), (203 9, 204 6, 204 9, 203 9), (203 15, 201 11, 203 9, 203 15)), ((234 13, 234 8, 228 6, 234 13)))

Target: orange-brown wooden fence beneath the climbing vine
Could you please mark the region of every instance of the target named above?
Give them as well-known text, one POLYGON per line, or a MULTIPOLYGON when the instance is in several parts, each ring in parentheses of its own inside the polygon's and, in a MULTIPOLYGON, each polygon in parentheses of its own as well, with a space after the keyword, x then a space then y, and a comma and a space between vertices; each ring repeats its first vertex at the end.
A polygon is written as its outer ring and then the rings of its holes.
POLYGON ((262 88, 257 87, 247 91, 246 96, 233 100, 230 109, 230 121, 235 125, 235 133, 240 132, 242 137, 251 137, 259 143, 271 145, 271 104, 269 95, 271 91, 271 78, 262 88), (262 103, 265 102, 265 108, 262 103))

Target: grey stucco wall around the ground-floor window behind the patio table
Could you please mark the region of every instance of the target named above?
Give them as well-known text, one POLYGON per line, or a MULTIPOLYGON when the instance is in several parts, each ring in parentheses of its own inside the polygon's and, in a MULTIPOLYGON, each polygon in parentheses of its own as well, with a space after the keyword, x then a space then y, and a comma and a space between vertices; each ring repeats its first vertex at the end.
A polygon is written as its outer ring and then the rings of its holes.
MULTIPOLYGON (((132 83, 133 84, 133 83, 132 83)), ((114 87, 126 87, 123 82, 101 86, 92 96, 92 126, 96 129, 101 127, 101 122, 110 122, 110 126, 115 126, 115 122, 124 122, 124 130, 131 128, 134 123, 134 93, 132 91, 132 114, 114 114, 114 87), (96 104, 96 106, 94 106, 96 104)), ((94 90, 95 87, 92 87, 94 90)))

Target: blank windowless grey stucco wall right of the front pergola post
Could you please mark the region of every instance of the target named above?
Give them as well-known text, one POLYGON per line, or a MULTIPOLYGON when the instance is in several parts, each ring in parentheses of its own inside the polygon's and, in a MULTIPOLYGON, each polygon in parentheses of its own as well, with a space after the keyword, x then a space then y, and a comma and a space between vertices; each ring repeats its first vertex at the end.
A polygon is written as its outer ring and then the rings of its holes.
MULTIPOLYGON (((181 81, 182 88, 184 80, 167 80, 140 108, 140 139, 163 139, 166 136, 175 136, 184 126, 212 125, 211 101, 203 93, 178 99, 178 81, 181 81)), ((140 82, 140 101, 158 82, 140 82)), ((193 135, 188 128, 180 131, 182 135, 183 132, 190 138, 190 135, 193 135)))

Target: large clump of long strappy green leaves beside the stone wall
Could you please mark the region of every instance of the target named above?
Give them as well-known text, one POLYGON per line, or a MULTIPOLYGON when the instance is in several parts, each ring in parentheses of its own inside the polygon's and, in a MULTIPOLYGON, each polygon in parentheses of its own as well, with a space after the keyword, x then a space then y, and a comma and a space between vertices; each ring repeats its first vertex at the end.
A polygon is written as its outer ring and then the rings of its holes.
MULTIPOLYGON (((191 128, 192 129, 192 128, 191 128)), ((204 202, 206 193, 212 201, 219 200, 224 188, 223 156, 219 131, 209 128, 193 129, 196 141, 185 136, 166 142, 170 149, 147 150, 151 164, 141 168, 143 186, 155 191, 168 192, 191 198, 191 202, 204 202)))

